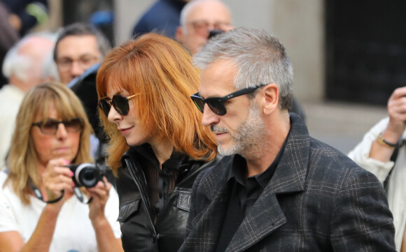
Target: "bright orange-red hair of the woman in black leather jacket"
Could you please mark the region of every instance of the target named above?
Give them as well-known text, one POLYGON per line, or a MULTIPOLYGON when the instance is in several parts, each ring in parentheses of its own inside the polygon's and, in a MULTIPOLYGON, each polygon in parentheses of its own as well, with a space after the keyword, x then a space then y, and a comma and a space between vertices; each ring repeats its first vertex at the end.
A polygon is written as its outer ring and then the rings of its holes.
MULTIPOLYGON (((97 72, 97 94, 107 96, 107 87, 125 89, 134 98, 140 121, 153 128, 160 139, 168 139, 175 151, 195 159, 213 159, 217 144, 190 95, 198 90, 200 71, 176 41, 158 34, 145 34, 111 50, 97 72)), ((115 172, 129 148, 125 137, 103 113, 100 121, 109 139, 108 163, 115 172)))

